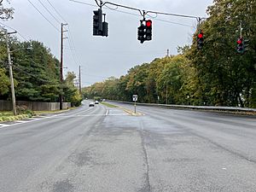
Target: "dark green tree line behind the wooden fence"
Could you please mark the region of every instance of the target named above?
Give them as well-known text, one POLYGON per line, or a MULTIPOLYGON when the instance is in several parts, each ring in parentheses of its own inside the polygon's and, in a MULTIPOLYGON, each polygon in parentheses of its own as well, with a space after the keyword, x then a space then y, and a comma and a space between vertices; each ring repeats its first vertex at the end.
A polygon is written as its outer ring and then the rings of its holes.
MULTIPOLYGON (((82 100, 73 80, 76 75, 68 72, 60 81, 60 61, 50 53, 50 49, 38 41, 20 42, 10 38, 12 66, 15 80, 15 96, 19 101, 59 102, 60 94, 64 102, 78 106, 82 100)), ((10 100, 9 65, 5 36, 0 36, 0 100, 10 100)))

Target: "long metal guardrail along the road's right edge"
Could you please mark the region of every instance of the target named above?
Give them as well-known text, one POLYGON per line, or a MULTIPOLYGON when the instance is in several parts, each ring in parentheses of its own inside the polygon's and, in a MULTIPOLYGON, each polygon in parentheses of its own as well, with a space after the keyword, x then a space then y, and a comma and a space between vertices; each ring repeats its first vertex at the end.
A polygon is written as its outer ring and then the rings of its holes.
MULTIPOLYGON (((112 101, 121 102, 121 101, 112 101)), ((134 102, 121 102, 126 104, 134 104, 134 102)), ((212 111, 230 111, 230 112, 249 112, 256 113, 256 108, 239 108, 239 107, 222 107, 222 106, 190 106, 190 105, 166 105, 155 103, 140 103, 136 102, 139 106, 150 106, 155 108, 175 108, 175 109, 197 109, 197 110, 212 110, 212 111)))

